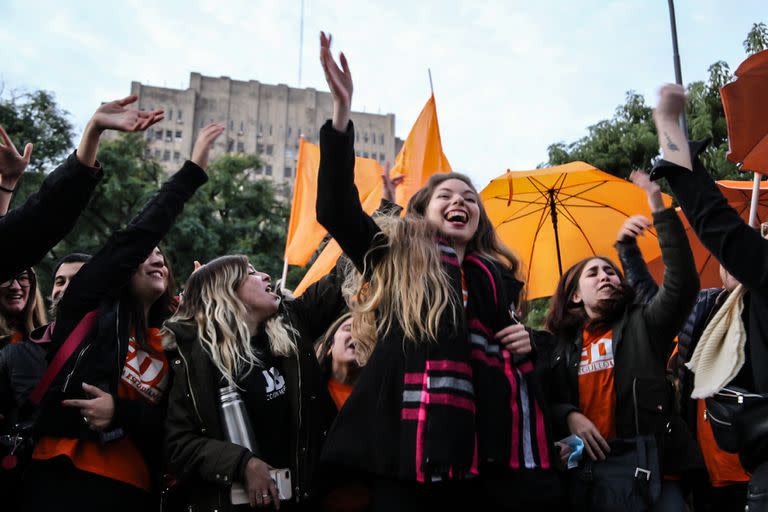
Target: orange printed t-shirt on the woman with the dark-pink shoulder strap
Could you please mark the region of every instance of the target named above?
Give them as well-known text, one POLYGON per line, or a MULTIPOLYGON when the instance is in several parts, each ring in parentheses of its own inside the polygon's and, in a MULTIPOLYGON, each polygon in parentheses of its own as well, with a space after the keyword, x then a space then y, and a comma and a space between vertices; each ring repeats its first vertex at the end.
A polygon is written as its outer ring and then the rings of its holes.
MULTIPOLYGON (((163 337, 159 329, 147 329, 147 343, 151 351, 142 350, 133 336, 128 339, 128 356, 117 395, 128 400, 160 402, 168 387, 168 359, 162 348, 163 337)), ((157 435, 162 435, 158 432, 157 435)), ((68 457, 83 471, 118 480, 146 491, 152 482, 149 467, 133 441, 127 437, 108 443, 82 439, 43 437, 35 446, 32 458, 44 460, 58 456, 68 457)))

